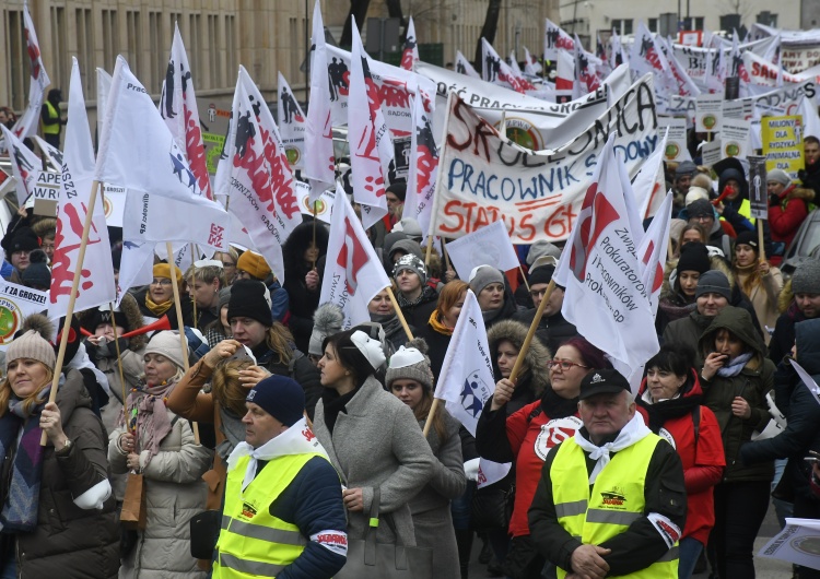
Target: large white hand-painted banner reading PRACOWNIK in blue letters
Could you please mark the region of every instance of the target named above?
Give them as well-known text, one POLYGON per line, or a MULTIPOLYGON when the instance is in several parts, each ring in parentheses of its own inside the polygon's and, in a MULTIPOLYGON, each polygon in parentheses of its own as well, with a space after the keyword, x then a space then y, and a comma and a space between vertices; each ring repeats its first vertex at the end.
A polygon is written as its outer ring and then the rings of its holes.
POLYGON ((607 137, 630 176, 658 145, 653 86, 644 76, 573 140, 539 152, 508 143, 453 93, 431 231, 460 237, 503 218, 514 244, 566 239, 607 137))

